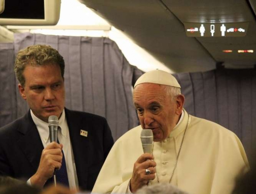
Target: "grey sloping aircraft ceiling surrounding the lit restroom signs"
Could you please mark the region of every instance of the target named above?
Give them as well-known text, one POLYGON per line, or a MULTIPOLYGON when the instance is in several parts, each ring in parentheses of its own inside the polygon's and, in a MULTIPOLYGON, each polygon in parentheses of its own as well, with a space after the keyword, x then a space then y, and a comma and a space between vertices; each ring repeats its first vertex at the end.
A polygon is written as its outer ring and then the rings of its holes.
MULTIPOLYGON (((251 67, 256 52, 253 7, 244 0, 79 0, 175 72, 206 71, 216 62, 251 67), (183 22, 249 22, 245 37, 187 37, 183 22), (223 53, 222 50, 234 52, 223 53), (247 54, 247 55, 246 55, 247 54)), ((255 0, 251 0, 255 1, 255 0)), ((254 62, 255 61, 255 62, 254 62)), ((230 66, 230 65, 229 65, 230 66)))

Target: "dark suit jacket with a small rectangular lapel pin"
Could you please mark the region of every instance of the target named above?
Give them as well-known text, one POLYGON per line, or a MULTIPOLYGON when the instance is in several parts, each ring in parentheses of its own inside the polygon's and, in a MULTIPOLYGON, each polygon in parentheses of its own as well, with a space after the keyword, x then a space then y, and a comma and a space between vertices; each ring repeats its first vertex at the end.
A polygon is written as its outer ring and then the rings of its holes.
MULTIPOLYGON (((104 117, 65 108, 79 187, 90 191, 108 155, 113 138, 104 117), (80 135, 80 130, 88 136, 80 135)), ((28 180, 44 149, 30 111, 0 128, 0 175, 28 180)))

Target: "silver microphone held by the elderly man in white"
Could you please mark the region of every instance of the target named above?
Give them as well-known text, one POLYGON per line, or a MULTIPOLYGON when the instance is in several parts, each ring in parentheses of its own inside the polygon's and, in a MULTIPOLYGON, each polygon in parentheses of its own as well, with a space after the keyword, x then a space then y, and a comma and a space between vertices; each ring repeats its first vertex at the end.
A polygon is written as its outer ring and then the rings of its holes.
POLYGON ((142 148, 144 153, 152 154, 153 146, 153 132, 151 129, 143 129, 140 133, 140 140, 142 141, 142 148))

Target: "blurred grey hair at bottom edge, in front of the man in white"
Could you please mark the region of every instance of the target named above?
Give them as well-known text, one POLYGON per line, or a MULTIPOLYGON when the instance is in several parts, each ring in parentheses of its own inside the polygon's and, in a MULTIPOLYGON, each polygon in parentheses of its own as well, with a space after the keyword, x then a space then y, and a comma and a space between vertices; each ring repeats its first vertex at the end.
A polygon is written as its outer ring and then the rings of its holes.
POLYGON ((171 184, 155 184, 150 186, 144 186, 137 190, 136 194, 188 194, 185 191, 179 190, 177 187, 171 184))

